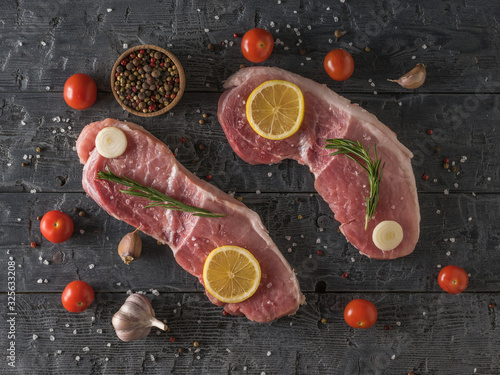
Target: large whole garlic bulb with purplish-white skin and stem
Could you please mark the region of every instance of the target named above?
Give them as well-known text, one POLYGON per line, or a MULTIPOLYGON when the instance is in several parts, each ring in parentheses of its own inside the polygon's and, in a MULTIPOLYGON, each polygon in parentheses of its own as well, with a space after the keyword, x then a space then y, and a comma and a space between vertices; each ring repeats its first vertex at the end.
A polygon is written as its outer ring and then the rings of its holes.
POLYGON ((145 338, 152 326, 168 331, 167 325, 155 318, 149 298, 139 293, 132 294, 125 300, 111 322, 118 338, 125 342, 145 338))

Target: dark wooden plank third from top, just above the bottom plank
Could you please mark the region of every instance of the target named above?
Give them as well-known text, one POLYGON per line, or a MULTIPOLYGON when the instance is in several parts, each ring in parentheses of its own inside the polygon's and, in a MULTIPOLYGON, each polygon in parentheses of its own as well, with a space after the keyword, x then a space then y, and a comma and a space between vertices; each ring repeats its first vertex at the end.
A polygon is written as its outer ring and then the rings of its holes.
MULTIPOLYGON (((260 215, 296 270, 303 291, 439 291, 437 274, 448 264, 460 265, 471 274, 469 291, 500 291, 500 276, 492 267, 500 262, 499 213, 492 209, 500 204, 498 194, 421 194, 420 241, 413 254, 393 261, 360 255, 338 233, 338 222, 317 194, 238 196, 260 215)), ((84 194, 4 193, 0 207, 0 252, 4 254, 0 269, 6 269, 8 256, 14 257, 19 291, 60 292, 75 279, 103 292, 203 291, 176 264, 167 246, 145 235, 141 258, 126 266, 118 257, 117 245, 133 228, 111 218, 84 194), (85 216, 74 213, 74 207, 84 210, 85 216), (51 209, 74 219, 74 235, 63 244, 41 236, 36 217, 51 209), (31 248, 31 241, 37 247, 31 248)), ((0 284, 0 291, 6 290, 6 284, 0 284)))

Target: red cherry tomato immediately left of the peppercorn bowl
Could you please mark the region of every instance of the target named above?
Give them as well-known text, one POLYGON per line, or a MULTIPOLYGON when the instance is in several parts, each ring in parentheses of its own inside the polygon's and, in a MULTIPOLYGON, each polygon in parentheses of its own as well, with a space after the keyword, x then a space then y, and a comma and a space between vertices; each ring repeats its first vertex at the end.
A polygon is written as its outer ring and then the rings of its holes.
POLYGON ((92 77, 77 73, 64 84, 64 100, 71 108, 87 109, 97 98, 97 85, 92 77))

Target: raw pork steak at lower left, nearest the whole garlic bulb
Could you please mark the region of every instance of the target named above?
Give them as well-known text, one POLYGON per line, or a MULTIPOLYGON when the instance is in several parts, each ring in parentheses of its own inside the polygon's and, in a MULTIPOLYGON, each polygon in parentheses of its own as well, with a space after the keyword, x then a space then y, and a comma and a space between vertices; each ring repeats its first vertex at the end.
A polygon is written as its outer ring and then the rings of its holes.
MULTIPOLYGON (((203 265, 208 254, 223 245, 249 250, 259 261, 262 279, 257 292, 236 304, 225 304, 233 315, 269 322, 294 314, 304 303, 299 284, 290 265, 273 243, 259 216, 243 203, 230 197, 184 168, 169 148, 139 125, 113 119, 87 125, 81 132, 77 152, 83 168, 82 184, 87 194, 113 217, 141 227, 141 231, 166 243, 177 262, 203 284, 203 265), (123 130, 128 145, 114 159, 101 156, 95 138, 107 126, 123 130), (125 187, 96 179, 99 170, 109 167, 118 176, 127 176, 185 204, 225 214, 221 218, 203 218, 190 213, 144 208, 150 201, 120 192, 125 187)), ((125 188, 126 189, 126 188, 125 188)), ((210 300, 223 305, 209 295, 210 300)))

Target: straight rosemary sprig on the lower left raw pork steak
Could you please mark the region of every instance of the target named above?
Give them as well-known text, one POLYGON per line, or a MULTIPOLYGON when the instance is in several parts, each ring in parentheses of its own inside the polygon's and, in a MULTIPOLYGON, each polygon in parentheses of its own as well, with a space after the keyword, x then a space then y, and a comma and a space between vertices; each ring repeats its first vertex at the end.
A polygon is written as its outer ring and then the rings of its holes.
POLYGON ((159 192, 155 188, 152 188, 150 186, 144 186, 126 176, 119 177, 115 175, 113 172, 111 172, 108 166, 106 166, 106 170, 107 172, 103 171, 97 172, 97 178, 102 180, 108 180, 111 182, 116 182, 118 184, 127 186, 128 188, 130 188, 129 190, 120 190, 120 191, 124 194, 129 194, 134 197, 146 198, 153 202, 145 206, 144 208, 163 207, 167 210, 191 212, 193 215, 201 217, 226 216, 222 214, 213 213, 211 211, 205 210, 204 208, 189 206, 187 204, 179 202, 174 198, 169 197, 168 195, 159 192))

